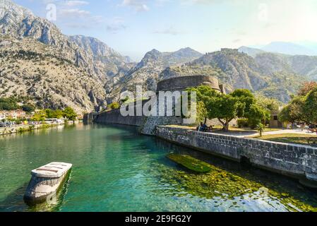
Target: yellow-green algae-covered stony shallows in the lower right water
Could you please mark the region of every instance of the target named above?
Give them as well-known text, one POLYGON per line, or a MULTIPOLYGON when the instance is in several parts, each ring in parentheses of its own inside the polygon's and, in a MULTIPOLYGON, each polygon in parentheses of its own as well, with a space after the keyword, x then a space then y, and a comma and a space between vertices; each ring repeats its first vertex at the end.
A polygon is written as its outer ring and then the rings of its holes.
POLYGON ((205 174, 185 172, 171 167, 162 167, 159 173, 162 181, 174 184, 175 189, 179 191, 178 196, 190 194, 201 198, 220 197, 232 201, 237 198, 263 200, 282 205, 292 212, 317 212, 316 205, 298 196, 296 190, 286 191, 282 187, 277 188, 275 182, 247 179, 207 162, 204 162, 204 165, 210 169, 205 174))

